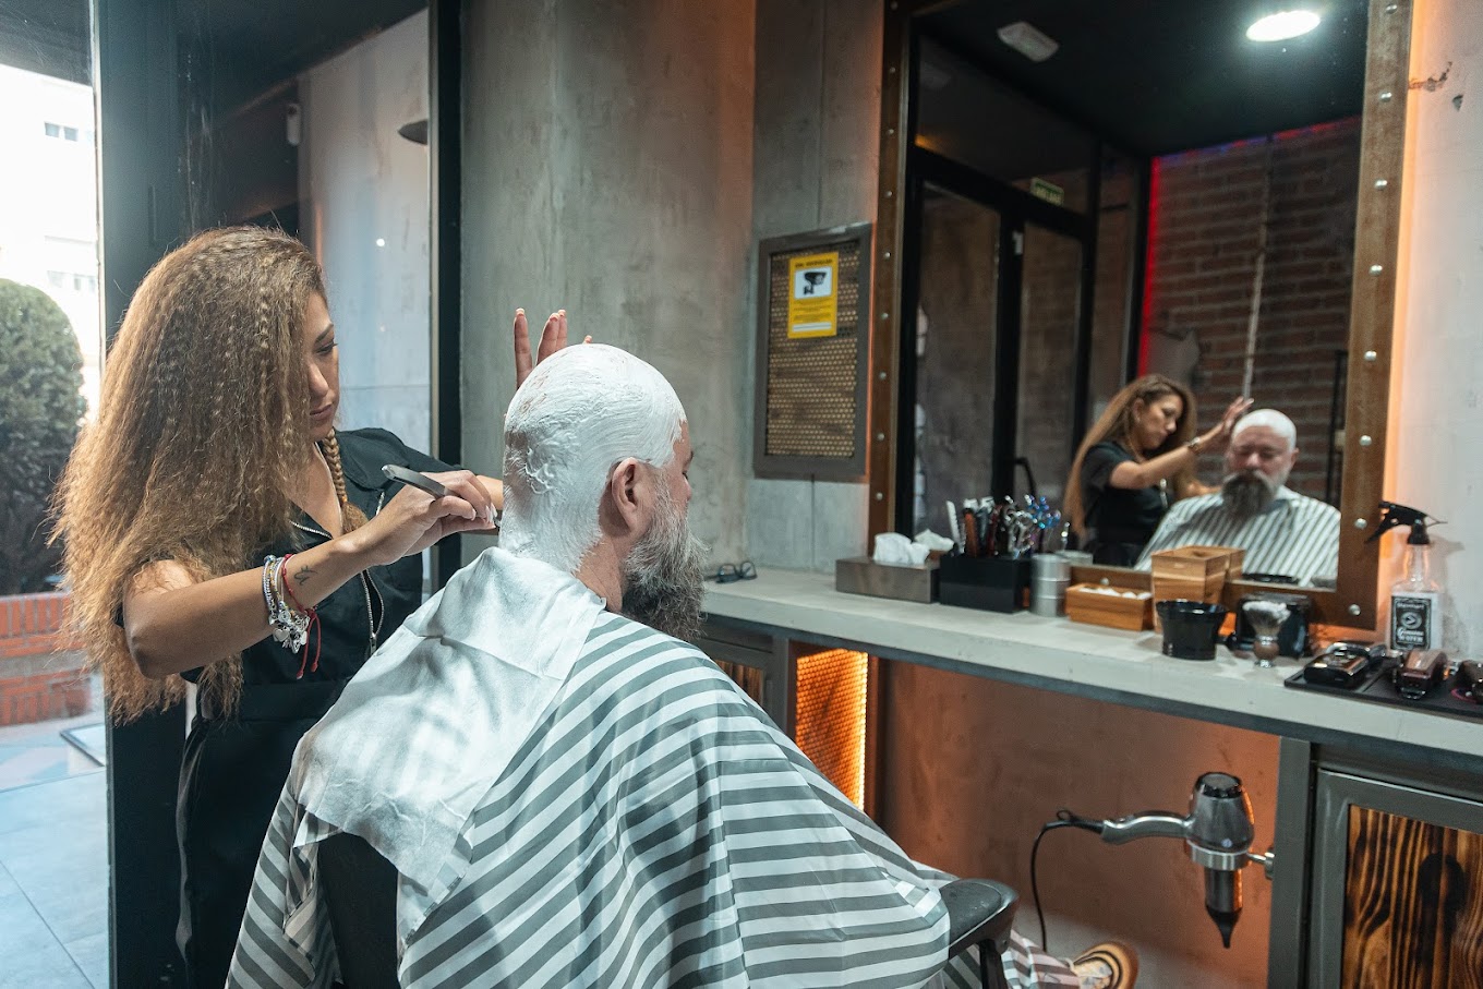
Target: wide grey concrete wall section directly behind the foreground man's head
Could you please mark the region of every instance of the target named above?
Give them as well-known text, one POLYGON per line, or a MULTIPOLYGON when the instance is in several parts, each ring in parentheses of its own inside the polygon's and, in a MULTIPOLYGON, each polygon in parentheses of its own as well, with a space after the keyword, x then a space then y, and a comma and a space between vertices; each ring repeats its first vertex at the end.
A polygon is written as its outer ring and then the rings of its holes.
POLYGON ((485 0, 464 33, 464 460, 498 473, 515 308, 538 334, 564 307, 673 383, 715 560, 746 552, 752 24, 752 0, 485 0))

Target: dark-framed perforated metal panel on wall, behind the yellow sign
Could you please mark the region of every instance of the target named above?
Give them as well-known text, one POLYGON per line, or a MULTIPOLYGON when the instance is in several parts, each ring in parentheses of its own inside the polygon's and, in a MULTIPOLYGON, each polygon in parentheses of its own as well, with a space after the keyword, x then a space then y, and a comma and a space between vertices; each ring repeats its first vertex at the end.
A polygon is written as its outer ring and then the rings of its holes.
POLYGON ((865 474, 869 248, 869 224, 762 243, 758 476, 845 480, 865 474), (833 251, 839 254, 835 331, 790 338, 789 261, 833 251))

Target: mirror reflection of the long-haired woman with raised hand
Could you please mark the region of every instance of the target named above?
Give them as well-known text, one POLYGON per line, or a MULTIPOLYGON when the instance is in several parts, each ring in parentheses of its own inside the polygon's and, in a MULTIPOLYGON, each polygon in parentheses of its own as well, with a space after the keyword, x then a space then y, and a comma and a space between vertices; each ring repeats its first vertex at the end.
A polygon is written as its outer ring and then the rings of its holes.
POLYGON ((1132 566, 1170 504, 1207 494, 1195 480, 1200 451, 1223 449, 1250 405, 1235 399, 1195 436, 1195 400, 1178 381, 1149 374, 1112 396, 1066 480, 1065 513, 1091 560, 1132 566))

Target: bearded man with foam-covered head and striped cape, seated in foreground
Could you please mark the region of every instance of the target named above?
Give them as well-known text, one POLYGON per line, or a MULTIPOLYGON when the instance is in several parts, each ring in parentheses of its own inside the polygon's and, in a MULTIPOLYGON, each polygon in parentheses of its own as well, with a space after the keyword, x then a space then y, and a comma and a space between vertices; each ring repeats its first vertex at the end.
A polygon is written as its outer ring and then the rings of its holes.
MULTIPOLYGON (((504 442, 501 547, 300 744, 228 985, 340 976, 317 864, 340 832, 399 873, 402 986, 977 985, 946 958, 949 876, 672 638, 698 626, 704 550, 669 383, 569 347, 504 442)), ((1081 985, 1019 937, 1001 961, 1014 986, 1081 985)))

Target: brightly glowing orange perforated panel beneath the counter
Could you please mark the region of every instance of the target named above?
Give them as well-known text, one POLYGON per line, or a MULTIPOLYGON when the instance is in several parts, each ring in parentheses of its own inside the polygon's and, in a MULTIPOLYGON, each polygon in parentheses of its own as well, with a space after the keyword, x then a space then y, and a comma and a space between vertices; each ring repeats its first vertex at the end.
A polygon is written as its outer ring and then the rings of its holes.
POLYGON ((865 807, 865 652, 798 657, 798 747, 856 807, 865 807))

